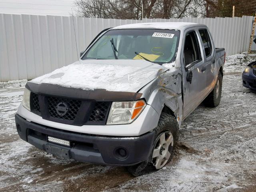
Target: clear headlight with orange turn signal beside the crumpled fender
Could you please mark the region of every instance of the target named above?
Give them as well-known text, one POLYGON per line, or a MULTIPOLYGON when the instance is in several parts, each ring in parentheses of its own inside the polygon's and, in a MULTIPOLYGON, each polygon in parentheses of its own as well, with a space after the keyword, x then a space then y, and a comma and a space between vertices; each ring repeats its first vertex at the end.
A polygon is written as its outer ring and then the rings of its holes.
POLYGON ((113 102, 107 124, 129 124, 140 115, 145 107, 144 100, 113 102))

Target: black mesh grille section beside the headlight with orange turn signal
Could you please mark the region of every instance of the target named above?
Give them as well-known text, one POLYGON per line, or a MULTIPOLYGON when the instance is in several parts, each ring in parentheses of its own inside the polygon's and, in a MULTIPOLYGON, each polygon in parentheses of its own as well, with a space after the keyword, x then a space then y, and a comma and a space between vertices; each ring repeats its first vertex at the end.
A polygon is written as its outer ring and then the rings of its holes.
POLYGON ((100 122, 106 119, 108 110, 110 107, 110 102, 96 102, 92 113, 90 115, 90 122, 100 122))

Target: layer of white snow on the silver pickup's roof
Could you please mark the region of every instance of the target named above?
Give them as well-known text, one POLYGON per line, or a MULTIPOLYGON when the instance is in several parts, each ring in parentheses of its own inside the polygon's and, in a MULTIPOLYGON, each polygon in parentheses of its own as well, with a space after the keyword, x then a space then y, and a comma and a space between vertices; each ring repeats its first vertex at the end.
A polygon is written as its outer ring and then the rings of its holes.
POLYGON ((143 29, 143 28, 152 28, 152 29, 176 29, 180 30, 182 28, 187 28, 188 26, 199 25, 197 23, 188 23, 188 22, 152 22, 152 23, 134 23, 127 25, 120 25, 112 29, 143 29))

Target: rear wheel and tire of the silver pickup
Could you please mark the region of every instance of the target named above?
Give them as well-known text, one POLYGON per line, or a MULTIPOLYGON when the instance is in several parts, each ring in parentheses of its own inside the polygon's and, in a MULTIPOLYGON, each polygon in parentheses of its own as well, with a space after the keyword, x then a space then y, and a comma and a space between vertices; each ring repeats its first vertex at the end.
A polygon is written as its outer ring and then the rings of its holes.
POLYGON ((207 106, 207 107, 217 107, 220 104, 221 93, 222 93, 222 74, 219 71, 217 82, 214 86, 214 89, 204 99, 205 106, 207 106))

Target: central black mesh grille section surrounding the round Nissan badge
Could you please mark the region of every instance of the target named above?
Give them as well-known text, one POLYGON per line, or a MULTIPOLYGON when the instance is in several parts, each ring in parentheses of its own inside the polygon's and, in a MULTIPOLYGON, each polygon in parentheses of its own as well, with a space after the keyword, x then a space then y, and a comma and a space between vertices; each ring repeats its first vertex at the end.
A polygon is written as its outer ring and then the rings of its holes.
POLYGON ((48 112, 50 116, 53 118, 59 118, 59 119, 65 119, 65 120, 74 120, 82 104, 82 101, 80 100, 59 98, 59 97, 47 97, 47 102, 48 102, 48 112), (56 110, 56 106, 62 102, 65 103, 68 107, 68 110, 64 115, 58 114, 56 110))

